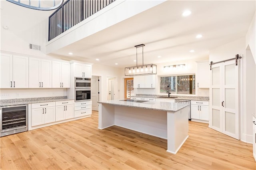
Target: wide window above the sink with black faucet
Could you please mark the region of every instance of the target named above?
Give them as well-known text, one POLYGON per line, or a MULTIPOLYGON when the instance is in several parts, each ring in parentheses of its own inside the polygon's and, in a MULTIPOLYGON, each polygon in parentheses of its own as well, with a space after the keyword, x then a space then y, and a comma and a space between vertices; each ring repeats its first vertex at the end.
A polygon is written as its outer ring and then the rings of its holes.
POLYGON ((196 94, 195 75, 160 77, 160 93, 167 93, 167 86, 172 94, 196 94))

